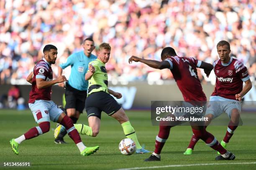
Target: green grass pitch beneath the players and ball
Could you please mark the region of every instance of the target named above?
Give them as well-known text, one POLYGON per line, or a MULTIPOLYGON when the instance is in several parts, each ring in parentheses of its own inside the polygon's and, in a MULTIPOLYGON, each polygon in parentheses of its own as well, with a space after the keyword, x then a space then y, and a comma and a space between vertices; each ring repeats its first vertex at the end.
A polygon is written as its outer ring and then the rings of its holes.
MULTIPOLYGON (((141 144, 153 151, 158 126, 151 125, 150 111, 127 111, 131 124, 136 130, 141 144)), ((87 124, 87 115, 81 115, 78 123, 87 124)), ((234 161, 215 161, 217 153, 200 141, 195 146, 193 155, 183 155, 192 135, 189 126, 178 126, 171 129, 162 153, 160 162, 144 162, 150 154, 133 154, 125 156, 118 150, 120 140, 125 138, 118 121, 102 113, 100 133, 96 138, 82 135, 82 141, 87 146, 99 145, 97 153, 82 157, 73 141, 66 136, 67 145, 54 143, 53 130, 56 123, 51 122, 49 133, 21 143, 20 155, 15 155, 10 148, 9 140, 17 138, 28 129, 37 126, 30 110, 0 110, 0 169, 14 170, 115 170, 122 168, 145 167, 145 169, 197 169, 216 170, 256 169, 256 127, 240 126, 228 144, 228 150, 236 155, 234 161), (4 167, 7 162, 29 162, 30 167, 4 167), (217 163, 218 165, 211 165, 217 163), (231 163, 231 164, 230 164, 231 163), (241 164, 240 164, 241 163, 241 164), (249 163, 249 164, 245 164, 249 163), (200 164, 184 167, 188 164, 200 164), (205 164, 205 165, 201 165, 205 164), (174 167, 168 167, 175 165, 174 167), (177 166, 176 166, 177 165, 177 166), (181 165, 181 166, 180 166, 181 165), (166 166, 166 167, 161 167, 166 166), (152 168, 155 167, 155 168, 152 168)), ((210 126, 207 128, 221 141, 227 126, 210 126)))

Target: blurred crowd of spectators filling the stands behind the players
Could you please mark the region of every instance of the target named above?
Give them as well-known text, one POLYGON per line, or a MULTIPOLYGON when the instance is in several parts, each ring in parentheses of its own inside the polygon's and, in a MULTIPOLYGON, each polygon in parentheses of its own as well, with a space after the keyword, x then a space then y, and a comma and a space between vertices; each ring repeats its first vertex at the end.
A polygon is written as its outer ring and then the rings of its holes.
MULTIPOLYGON (((212 63, 216 44, 227 40, 231 55, 256 77, 255 0, 1 0, 0 83, 24 84, 41 60, 46 44, 58 48, 57 66, 82 49, 82 40, 93 37, 96 47, 110 43, 106 65, 115 82, 173 80, 166 70, 141 63, 128 64, 131 55, 161 60, 163 47, 179 56, 212 63)), ((96 54, 96 50, 93 52, 96 54)), ((70 69, 65 70, 68 77, 70 69)), ((214 83, 215 76, 203 83, 214 83)))

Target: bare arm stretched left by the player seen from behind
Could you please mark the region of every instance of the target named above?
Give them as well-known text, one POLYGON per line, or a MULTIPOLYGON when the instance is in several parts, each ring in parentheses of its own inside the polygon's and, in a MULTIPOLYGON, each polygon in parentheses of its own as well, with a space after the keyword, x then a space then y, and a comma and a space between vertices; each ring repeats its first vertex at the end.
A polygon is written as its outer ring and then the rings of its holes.
POLYGON ((168 61, 160 62, 160 61, 156 61, 156 60, 146 60, 146 59, 139 58, 136 56, 131 56, 129 58, 129 63, 131 64, 133 61, 142 62, 142 63, 148 65, 149 67, 156 68, 156 69, 170 68, 170 66, 171 66, 168 61))

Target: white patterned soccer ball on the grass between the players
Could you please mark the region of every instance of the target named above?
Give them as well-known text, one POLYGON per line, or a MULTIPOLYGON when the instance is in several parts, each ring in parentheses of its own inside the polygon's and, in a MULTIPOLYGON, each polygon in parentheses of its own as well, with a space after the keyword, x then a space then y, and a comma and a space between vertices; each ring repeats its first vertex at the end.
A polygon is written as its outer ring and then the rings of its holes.
POLYGON ((132 155, 136 151, 136 145, 133 140, 126 138, 119 143, 119 150, 123 155, 132 155))

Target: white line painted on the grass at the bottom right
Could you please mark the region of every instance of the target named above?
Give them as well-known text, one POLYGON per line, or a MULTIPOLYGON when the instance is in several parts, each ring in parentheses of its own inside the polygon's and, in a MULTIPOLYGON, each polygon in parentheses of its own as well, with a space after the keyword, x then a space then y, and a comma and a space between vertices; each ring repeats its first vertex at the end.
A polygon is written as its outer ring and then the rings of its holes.
POLYGON ((165 166, 153 166, 153 167, 135 167, 135 168, 124 168, 117 170, 141 170, 141 169, 152 169, 152 168, 169 168, 169 167, 186 167, 186 166, 204 166, 204 165, 238 165, 238 164, 256 164, 251 163, 202 163, 202 164, 188 164, 188 165, 165 165, 165 166))

